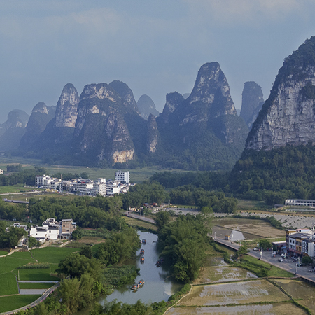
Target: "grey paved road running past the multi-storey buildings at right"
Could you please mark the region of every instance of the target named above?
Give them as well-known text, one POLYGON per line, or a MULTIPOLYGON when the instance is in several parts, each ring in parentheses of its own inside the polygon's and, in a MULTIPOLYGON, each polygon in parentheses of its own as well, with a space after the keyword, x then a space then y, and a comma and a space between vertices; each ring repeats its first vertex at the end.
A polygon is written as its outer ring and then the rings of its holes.
MULTIPOLYGON (((231 241, 226 241, 225 239, 219 239, 218 237, 215 239, 220 244, 228 246, 237 250, 239 248, 239 244, 236 244, 231 241)), ((251 255, 255 258, 260 258, 262 261, 268 262, 270 265, 274 265, 283 270, 291 272, 295 274, 297 272, 297 276, 301 276, 304 279, 312 281, 315 283, 315 273, 309 272, 309 266, 296 267, 296 262, 293 262, 291 259, 286 259, 286 262, 279 262, 278 259, 281 257, 280 255, 276 255, 276 257, 272 257, 272 251, 263 251, 262 255, 260 251, 253 251, 252 249, 248 252, 248 255, 251 255)))

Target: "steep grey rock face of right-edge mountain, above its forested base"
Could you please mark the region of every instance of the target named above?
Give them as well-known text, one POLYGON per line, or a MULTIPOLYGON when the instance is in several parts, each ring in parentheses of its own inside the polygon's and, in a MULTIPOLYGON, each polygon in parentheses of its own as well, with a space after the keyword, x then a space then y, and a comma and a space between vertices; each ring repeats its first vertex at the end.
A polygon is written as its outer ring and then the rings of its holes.
POLYGON ((315 36, 286 58, 246 149, 315 144, 315 36))

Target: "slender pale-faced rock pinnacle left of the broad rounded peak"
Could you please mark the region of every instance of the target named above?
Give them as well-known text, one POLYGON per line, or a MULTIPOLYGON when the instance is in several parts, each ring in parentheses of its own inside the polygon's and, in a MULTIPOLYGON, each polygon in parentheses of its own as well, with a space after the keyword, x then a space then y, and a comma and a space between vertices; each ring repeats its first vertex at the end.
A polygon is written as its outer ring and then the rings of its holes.
POLYGON ((78 102, 78 91, 71 83, 66 84, 57 102, 56 127, 76 127, 78 102))

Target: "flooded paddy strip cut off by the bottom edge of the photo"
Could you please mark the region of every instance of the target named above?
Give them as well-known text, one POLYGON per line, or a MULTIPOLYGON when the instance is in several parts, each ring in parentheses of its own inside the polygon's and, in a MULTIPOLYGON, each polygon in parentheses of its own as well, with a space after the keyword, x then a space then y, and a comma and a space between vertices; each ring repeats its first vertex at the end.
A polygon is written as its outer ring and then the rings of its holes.
POLYGON ((174 307, 167 315, 305 315, 306 311, 291 303, 276 303, 262 305, 239 305, 233 307, 174 307))

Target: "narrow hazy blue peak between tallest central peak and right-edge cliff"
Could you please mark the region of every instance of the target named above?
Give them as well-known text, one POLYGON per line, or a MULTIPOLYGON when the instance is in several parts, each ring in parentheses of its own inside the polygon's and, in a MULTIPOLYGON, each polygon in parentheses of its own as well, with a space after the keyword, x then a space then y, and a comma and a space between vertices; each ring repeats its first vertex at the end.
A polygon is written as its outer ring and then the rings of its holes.
POLYGON ((241 94, 240 116, 245 120, 249 129, 251 129, 253 122, 257 118, 263 103, 264 96, 261 87, 253 81, 245 82, 241 94))

